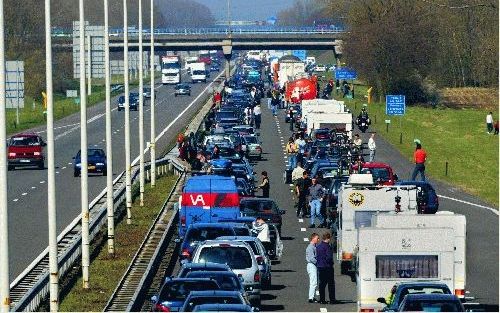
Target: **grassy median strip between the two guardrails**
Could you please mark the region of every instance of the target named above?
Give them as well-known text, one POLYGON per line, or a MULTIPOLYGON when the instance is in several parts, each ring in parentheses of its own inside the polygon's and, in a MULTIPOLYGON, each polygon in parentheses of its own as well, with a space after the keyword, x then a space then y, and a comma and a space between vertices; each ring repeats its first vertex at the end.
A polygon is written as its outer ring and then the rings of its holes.
MULTIPOLYGON (((126 221, 122 220, 115 225, 114 257, 108 254, 104 236, 97 240, 97 243, 92 243, 91 253, 96 257, 90 265, 90 289, 82 288, 81 272, 78 271, 78 279, 68 286, 69 292, 61 295, 60 311, 96 312, 104 309, 176 179, 177 176, 159 178, 154 189, 146 185, 144 207, 140 207, 138 201, 132 206, 132 224, 127 225, 126 221)), ((104 232, 106 229, 105 226, 104 232)))

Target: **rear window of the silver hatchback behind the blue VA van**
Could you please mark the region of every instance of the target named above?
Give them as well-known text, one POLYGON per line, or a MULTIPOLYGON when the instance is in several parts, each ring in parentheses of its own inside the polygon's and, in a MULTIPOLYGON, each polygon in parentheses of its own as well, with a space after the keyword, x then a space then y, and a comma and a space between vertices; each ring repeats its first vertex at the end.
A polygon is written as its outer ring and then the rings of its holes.
POLYGON ((252 256, 245 247, 203 247, 198 261, 227 264, 233 270, 252 267, 252 256))

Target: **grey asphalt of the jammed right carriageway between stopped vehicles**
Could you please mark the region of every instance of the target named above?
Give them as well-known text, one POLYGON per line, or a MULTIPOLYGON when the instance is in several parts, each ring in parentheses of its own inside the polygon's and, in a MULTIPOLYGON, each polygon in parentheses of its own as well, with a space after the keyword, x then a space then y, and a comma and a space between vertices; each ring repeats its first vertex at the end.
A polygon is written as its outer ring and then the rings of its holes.
MULTIPOLYGON (((265 101, 263 101, 265 103, 265 101)), ((284 122, 281 110, 274 118, 262 105, 261 140, 263 160, 255 163, 255 172, 266 170, 271 182, 270 195, 281 209, 283 216, 284 254, 279 264, 272 267, 272 286, 262 292, 261 311, 356 311, 356 284, 350 277, 340 274, 340 266, 335 266, 336 298, 340 304, 310 304, 307 301, 308 276, 306 272, 305 249, 308 237, 314 231, 322 234, 326 229, 310 229, 309 219, 298 219, 295 215, 293 194, 290 186, 283 184, 282 173, 287 164, 284 152, 290 137, 289 124, 284 122)), ((357 132, 357 130, 355 131, 357 132)), ((363 141, 369 134, 362 134, 363 141)), ((413 165, 394 147, 380 136, 376 137, 376 161, 389 163, 400 179, 407 179, 413 165)), ((432 181, 440 198, 441 211, 453 211, 467 217, 467 283, 466 297, 469 302, 480 304, 478 309, 498 311, 498 211, 491 211, 487 204, 462 191, 439 182, 432 181), (446 198, 445 198, 446 197, 446 198), (468 203, 464 203, 468 202, 468 203), (495 213, 496 211, 496 213, 495 213)), ((260 196, 260 192, 257 193, 260 196)), ((174 273, 176 274, 176 269, 174 273)), ((318 296, 316 298, 319 298, 318 296)))

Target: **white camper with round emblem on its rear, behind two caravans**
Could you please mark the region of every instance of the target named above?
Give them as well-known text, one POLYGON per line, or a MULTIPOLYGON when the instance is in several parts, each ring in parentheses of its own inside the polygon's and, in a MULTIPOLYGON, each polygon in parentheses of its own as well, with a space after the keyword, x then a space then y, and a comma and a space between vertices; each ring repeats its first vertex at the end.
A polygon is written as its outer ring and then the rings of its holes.
POLYGON ((370 227, 372 216, 380 212, 417 212, 415 186, 378 186, 371 174, 351 174, 338 193, 337 260, 342 274, 353 274, 358 230, 370 227))

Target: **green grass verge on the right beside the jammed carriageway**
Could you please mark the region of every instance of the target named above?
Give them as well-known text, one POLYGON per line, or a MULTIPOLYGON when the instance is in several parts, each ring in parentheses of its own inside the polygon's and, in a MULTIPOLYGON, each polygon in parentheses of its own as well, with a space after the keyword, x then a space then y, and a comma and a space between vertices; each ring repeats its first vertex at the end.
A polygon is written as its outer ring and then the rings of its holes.
MULTIPOLYGON (((358 114, 366 86, 355 86, 355 99, 346 100, 353 114, 358 114)), ((486 133, 486 113, 479 109, 433 109, 407 106, 404 117, 389 117, 385 103, 368 105, 372 130, 387 139, 408 159, 413 159, 418 138, 427 151, 426 172, 433 178, 457 185, 498 207, 498 136, 486 133), (389 132, 384 120, 390 119, 389 132), (376 120, 376 122, 375 122, 376 120), (400 135, 402 134, 402 144, 400 135), (446 162, 449 164, 445 175, 446 162)), ((495 112, 498 120, 498 111, 495 112)), ((409 168, 408 171, 412 171, 409 168)), ((408 173, 401 173, 406 177, 408 173)))

